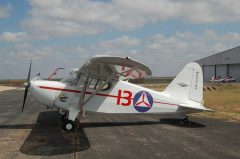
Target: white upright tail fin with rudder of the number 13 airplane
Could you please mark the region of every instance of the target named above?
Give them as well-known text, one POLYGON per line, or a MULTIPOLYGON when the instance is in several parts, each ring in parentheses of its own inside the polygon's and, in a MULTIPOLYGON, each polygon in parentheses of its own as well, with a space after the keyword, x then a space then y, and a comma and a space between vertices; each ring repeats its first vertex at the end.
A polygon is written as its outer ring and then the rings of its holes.
POLYGON ((199 64, 187 64, 164 92, 181 103, 202 106, 203 75, 199 64))

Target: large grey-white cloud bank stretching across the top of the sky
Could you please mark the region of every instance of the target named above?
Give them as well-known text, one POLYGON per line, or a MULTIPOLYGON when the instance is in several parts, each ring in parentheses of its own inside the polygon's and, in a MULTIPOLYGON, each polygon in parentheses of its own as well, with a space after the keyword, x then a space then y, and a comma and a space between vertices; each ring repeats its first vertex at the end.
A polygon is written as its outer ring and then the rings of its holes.
POLYGON ((44 38, 130 31, 145 25, 180 20, 225 23, 240 20, 239 0, 29 0, 32 9, 22 22, 44 38))

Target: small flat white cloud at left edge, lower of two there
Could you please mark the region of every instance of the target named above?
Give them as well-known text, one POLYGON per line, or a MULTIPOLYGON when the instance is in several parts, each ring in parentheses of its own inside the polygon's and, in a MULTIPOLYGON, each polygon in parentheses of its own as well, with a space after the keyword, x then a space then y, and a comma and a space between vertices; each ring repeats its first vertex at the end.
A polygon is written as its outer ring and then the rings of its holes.
POLYGON ((28 35, 26 32, 3 32, 2 35, 0 35, 0 40, 5 42, 19 42, 27 39, 28 35))

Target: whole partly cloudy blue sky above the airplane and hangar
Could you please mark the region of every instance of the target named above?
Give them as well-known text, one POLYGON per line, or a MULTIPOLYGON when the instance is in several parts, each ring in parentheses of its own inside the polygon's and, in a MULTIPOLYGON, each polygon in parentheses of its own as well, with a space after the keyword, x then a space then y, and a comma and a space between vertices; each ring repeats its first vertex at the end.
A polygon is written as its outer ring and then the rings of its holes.
POLYGON ((153 76, 240 45, 239 0, 1 0, 0 79, 48 77, 95 55, 129 56, 153 76))

